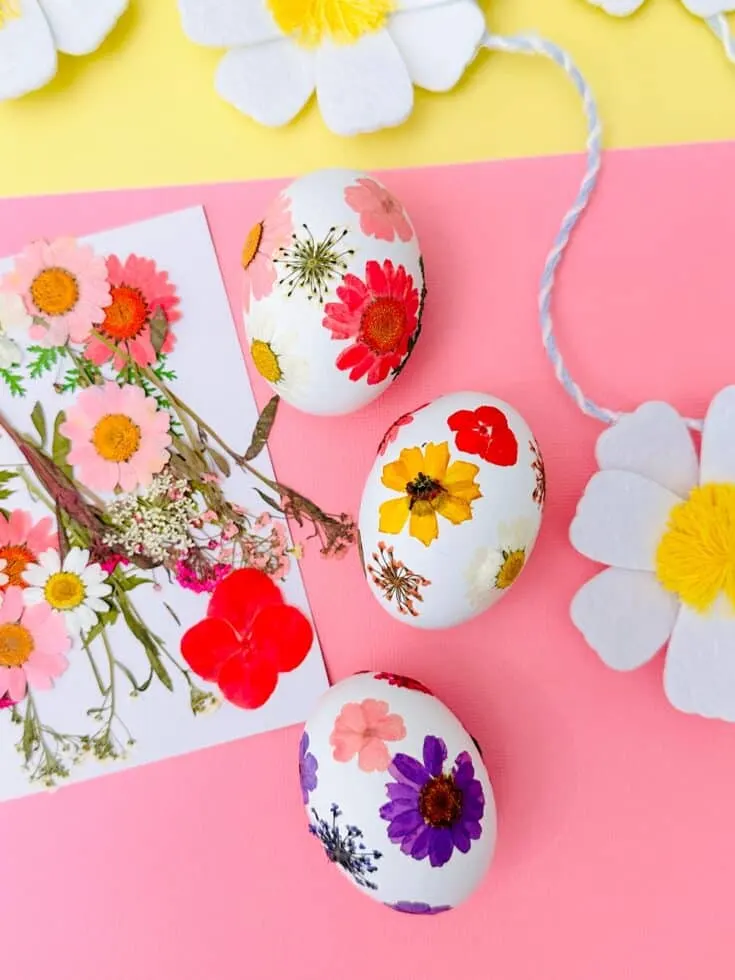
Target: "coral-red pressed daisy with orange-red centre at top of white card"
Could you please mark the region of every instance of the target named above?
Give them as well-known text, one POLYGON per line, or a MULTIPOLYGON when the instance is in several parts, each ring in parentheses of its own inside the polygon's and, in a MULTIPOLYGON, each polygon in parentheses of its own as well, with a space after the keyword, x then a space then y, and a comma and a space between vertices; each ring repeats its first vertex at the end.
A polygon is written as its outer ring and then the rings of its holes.
MULTIPOLYGON (((95 364, 104 364, 114 357, 116 371, 125 366, 126 354, 141 367, 154 364, 158 353, 151 338, 151 320, 157 313, 162 314, 170 328, 181 319, 178 308, 181 300, 169 282, 168 273, 159 269, 152 259, 130 255, 123 264, 116 255, 111 255, 107 259, 107 278, 112 301, 96 332, 114 344, 119 353, 114 354, 97 337, 90 337, 85 356, 95 364)), ((174 333, 168 329, 160 353, 170 354, 175 343, 174 333)))

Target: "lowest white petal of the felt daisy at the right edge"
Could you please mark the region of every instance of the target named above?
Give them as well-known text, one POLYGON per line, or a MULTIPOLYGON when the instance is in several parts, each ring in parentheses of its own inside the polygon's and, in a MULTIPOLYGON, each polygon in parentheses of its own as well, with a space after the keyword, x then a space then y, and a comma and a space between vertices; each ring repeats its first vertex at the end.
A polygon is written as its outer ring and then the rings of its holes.
POLYGON ((664 687, 680 711, 735 721, 735 617, 682 607, 666 654, 664 687))

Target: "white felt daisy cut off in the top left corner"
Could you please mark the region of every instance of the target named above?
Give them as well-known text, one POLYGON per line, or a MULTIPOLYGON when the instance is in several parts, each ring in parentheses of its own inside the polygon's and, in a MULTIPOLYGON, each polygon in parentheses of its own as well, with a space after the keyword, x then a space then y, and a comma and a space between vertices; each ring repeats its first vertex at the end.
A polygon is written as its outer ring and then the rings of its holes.
POLYGON ((128 0, 0 0, 0 101, 50 82, 57 51, 95 51, 127 6, 128 0))

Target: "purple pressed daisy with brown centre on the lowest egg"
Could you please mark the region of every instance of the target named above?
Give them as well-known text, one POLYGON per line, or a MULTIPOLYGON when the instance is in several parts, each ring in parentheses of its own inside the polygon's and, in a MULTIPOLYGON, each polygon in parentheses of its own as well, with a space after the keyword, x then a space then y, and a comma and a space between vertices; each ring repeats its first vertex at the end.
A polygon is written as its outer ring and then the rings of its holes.
POLYGON ((388 837, 416 861, 429 858, 441 868, 455 847, 466 854, 482 835, 485 794, 475 779, 469 752, 460 752, 451 772, 444 772, 447 747, 442 739, 427 735, 423 763, 399 752, 388 772, 395 779, 386 790, 390 803, 380 810, 388 821, 388 837))

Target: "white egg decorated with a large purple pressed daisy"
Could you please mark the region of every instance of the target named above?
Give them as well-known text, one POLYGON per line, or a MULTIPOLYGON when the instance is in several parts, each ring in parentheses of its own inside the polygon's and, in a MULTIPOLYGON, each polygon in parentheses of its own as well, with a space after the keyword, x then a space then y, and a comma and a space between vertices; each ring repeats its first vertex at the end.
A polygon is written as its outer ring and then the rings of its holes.
POLYGON ((309 830, 364 894, 431 915, 464 902, 495 849, 493 791, 474 739, 417 681, 356 674, 301 738, 309 830))

